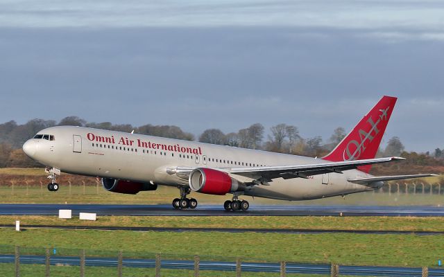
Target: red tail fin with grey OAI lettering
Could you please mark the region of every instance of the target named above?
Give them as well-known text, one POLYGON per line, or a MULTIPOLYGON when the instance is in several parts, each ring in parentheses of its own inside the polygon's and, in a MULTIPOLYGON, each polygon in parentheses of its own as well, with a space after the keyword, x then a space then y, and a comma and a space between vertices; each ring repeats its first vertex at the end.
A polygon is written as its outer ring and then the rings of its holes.
MULTIPOLYGON (((345 136, 339 145, 323 159, 352 161, 375 158, 396 100, 397 98, 391 96, 382 97, 352 129, 352 132, 345 136)), ((361 166, 359 170, 368 172, 370 166, 361 166)))

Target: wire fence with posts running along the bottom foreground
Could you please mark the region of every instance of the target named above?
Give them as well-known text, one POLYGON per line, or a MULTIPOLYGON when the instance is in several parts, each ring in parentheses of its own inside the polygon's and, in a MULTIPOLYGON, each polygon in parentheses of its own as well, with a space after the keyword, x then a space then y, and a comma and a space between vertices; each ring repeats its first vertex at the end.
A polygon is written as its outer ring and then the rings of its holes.
POLYGON ((270 262, 165 253, 42 249, 0 245, 0 276, 422 276, 443 277, 437 267, 377 267, 270 262))

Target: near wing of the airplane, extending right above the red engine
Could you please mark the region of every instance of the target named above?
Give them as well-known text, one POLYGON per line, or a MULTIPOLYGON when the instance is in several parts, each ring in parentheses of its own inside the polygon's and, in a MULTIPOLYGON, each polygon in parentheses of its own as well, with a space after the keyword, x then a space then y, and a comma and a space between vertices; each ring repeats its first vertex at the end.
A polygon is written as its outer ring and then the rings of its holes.
POLYGON ((312 175, 321 175, 324 173, 342 173, 344 170, 352 170, 359 166, 368 166, 375 163, 387 163, 389 161, 404 160, 401 157, 389 157, 379 159, 365 159, 357 161, 336 161, 325 163, 314 163, 297 166, 265 166, 255 168, 232 168, 228 172, 244 177, 261 180, 262 183, 276 178, 305 178, 312 175))

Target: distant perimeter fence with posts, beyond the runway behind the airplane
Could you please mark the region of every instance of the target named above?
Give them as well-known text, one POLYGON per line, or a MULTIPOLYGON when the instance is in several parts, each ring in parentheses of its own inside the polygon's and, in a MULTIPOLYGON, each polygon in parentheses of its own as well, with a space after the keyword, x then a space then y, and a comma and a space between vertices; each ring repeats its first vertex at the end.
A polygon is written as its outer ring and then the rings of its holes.
MULTIPOLYGON (((47 193, 46 186, 47 182, 41 180, 0 180, 0 192, 3 195, 44 195, 47 193)), ((62 184, 58 193, 62 195, 101 195, 108 192, 102 188, 99 180, 94 180, 94 183, 67 181, 67 184, 62 184)), ((444 195, 444 184, 389 182, 382 188, 373 190, 373 193, 387 193, 388 195, 444 195)))

